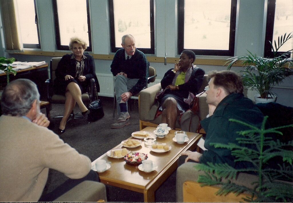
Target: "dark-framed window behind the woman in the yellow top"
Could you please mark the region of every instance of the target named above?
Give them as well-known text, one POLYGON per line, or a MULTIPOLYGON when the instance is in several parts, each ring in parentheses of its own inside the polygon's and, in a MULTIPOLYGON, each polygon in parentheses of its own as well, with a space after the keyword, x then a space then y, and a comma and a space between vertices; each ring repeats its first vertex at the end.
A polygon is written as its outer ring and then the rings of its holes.
POLYGON ((236 0, 178 0, 178 54, 233 56, 236 0))

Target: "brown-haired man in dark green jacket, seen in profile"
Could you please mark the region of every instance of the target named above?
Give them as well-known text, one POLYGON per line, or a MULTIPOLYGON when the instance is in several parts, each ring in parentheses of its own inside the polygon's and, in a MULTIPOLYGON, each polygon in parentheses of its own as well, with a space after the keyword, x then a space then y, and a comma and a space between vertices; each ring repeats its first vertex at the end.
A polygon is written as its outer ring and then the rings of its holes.
POLYGON ((209 143, 236 143, 240 137, 238 131, 248 129, 246 126, 231 122, 229 119, 244 121, 260 127, 263 113, 253 102, 243 95, 241 77, 233 71, 212 72, 209 74, 209 89, 207 90, 207 104, 209 115, 200 123, 206 131, 203 154, 186 151, 185 162, 189 159, 199 163, 227 163, 234 168, 246 168, 246 162, 234 162, 231 151, 225 148, 215 148, 209 143))

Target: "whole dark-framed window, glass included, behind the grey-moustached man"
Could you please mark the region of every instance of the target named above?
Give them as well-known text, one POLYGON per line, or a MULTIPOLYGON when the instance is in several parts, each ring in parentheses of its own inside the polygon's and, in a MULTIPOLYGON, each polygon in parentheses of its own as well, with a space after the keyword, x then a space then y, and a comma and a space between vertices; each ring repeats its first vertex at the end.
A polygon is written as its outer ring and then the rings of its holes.
POLYGON ((136 47, 154 54, 154 1, 109 0, 111 51, 122 48, 121 38, 131 34, 136 47))

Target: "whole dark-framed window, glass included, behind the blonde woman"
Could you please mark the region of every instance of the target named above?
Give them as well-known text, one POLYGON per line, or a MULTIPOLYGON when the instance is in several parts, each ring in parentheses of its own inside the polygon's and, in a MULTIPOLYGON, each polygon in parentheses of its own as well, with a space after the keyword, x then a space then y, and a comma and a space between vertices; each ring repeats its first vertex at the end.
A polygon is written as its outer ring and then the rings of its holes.
POLYGON ((71 37, 79 37, 91 47, 88 0, 53 0, 58 50, 69 50, 71 37))

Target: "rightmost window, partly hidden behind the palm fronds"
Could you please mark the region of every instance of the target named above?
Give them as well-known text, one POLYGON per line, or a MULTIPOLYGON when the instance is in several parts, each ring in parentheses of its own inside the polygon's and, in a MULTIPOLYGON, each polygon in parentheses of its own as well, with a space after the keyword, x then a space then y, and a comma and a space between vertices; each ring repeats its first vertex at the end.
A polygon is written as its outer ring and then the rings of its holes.
MULTIPOLYGON (((292 0, 268 0, 267 26, 265 35, 265 57, 272 56, 272 49, 269 41, 274 44, 278 37, 293 31, 293 1, 292 0)), ((293 48, 293 39, 287 41, 280 52, 293 48)))

